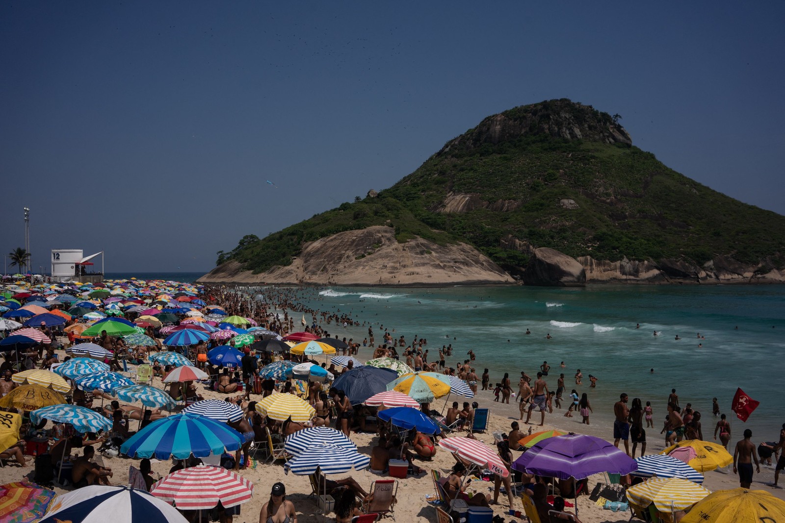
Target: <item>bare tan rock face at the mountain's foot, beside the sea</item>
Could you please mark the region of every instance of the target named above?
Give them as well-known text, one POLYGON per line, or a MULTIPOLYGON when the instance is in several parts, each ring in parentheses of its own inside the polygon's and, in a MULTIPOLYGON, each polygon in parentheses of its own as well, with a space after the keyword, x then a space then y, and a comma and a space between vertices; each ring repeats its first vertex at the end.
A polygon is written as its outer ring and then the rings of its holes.
POLYGON ((512 283, 513 278, 469 245, 440 246, 422 238, 398 243, 392 228, 375 226, 310 242, 288 267, 252 274, 230 261, 199 278, 199 282, 465 285, 512 283))

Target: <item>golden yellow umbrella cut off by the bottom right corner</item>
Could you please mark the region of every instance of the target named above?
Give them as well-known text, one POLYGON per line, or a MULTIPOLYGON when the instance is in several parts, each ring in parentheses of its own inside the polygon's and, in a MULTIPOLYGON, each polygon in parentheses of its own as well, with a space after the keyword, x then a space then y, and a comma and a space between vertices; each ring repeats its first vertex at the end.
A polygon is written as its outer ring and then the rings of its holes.
POLYGON ((718 490, 703 498, 681 519, 681 523, 738 521, 785 521, 785 501, 765 490, 718 490))

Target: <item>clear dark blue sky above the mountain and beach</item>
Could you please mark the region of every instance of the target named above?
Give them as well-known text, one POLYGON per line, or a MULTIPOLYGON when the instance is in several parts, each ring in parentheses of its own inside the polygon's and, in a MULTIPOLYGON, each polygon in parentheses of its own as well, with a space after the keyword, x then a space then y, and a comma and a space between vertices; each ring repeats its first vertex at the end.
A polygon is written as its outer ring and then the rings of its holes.
POLYGON ((2 2, 0 249, 206 271, 561 97, 785 213, 785 3, 639 3, 2 2))

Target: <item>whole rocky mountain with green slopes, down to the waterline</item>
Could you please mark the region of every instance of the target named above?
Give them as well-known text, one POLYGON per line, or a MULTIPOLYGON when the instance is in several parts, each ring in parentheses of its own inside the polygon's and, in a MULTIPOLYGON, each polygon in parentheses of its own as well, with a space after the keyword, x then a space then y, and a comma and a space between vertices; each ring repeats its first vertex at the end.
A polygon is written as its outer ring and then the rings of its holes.
POLYGON ((785 216, 667 168, 620 118, 564 99, 489 116, 388 189, 246 236, 200 281, 785 281, 785 216))

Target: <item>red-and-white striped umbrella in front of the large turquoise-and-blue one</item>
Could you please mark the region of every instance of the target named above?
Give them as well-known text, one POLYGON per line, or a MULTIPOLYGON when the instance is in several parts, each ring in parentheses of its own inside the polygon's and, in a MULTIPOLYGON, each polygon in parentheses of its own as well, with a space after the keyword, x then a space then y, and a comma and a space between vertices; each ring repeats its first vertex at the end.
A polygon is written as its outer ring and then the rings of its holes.
POLYGON ((231 470, 199 465, 156 481, 150 493, 180 510, 208 510, 219 501, 224 508, 245 503, 254 493, 254 484, 231 470))

